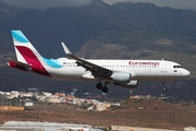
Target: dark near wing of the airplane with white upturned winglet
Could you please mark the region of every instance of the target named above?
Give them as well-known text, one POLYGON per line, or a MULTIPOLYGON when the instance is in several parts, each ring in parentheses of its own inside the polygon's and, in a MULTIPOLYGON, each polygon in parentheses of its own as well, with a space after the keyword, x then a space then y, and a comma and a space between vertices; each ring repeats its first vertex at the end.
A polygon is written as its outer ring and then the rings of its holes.
POLYGON ((100 66, 97 66, 95 63, 91 63, 89 61, 86 61, 85 59, 83 58, 79 58, 77 56, 74 56, 70 50, 69 48, 65 46, 64 43, 61 43, 62 44, 62 47, 65 51, 65 53, 72 58, 72 59, 75 59, 76 60, 76 63, 77 66, 81 66, 83 68, 85 68, 87 71, 90 71, 91 74, 95 76, 95 78, 99 78, 99 76, 102 76, 102 78, 108 78, 110 75, 112 75, 112 71, 109 70, 109 69, 106 69, 106 68, 102 68, 100 66))

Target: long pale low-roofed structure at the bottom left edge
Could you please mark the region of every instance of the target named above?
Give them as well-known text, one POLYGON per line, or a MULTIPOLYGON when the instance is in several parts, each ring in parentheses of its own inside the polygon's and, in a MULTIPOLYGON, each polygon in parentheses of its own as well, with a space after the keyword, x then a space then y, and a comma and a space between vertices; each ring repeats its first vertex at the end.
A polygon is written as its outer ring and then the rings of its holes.
POLYGON ((0 131, 101 131, 88 124, 8 121, 0 126, 0 131))

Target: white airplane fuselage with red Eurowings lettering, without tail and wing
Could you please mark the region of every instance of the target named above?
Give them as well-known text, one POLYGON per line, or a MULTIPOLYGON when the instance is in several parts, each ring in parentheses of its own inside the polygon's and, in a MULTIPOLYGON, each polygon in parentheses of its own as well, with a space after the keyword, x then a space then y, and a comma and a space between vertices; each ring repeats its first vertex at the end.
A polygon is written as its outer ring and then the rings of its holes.
MULTIPOLYGON (((60 58, 58 59, 62 68, 53 69, 46 66, 46 70, 53 78, 66 80, 96 80, 90 71, 76 64, 76 60, 60 58)), ((99 67, 109 69, 114 72, 128 72, 132 80, 136 81, 173 81, 180 80, 189 72, 179 63, 164 60, 93 60, 85 59, 99 67)), ((56 67, 56 66, 52 66, 56 67)), ((58 66, 57 66, 58 67, 58 66)))

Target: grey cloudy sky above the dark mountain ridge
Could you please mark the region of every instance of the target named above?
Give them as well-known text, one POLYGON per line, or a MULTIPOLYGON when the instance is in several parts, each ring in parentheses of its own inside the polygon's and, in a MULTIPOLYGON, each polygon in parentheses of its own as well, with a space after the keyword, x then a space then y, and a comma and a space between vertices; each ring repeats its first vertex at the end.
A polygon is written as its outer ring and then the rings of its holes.
MULTIPOLYGON (((52 8, 52 7, 79 7, 86 5, 91 0, 0 0, 14 7, 26 8, 52 8)), ((191 9, 196 11, 196 0, 102 0, 109 4, 115 2, 148 2, 158 7, 170 7, 174 9, 191 9)))

